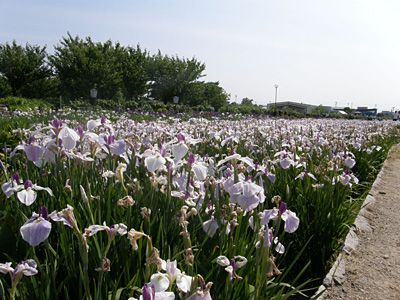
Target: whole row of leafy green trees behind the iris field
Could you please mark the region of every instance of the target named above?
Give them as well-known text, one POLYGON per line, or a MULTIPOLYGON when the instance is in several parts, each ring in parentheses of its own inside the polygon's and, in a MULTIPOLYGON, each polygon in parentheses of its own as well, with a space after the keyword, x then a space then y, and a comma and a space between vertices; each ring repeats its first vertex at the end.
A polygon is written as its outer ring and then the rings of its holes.
POLYGON ((224 106, 228 95, 218 82, 205 82, 205 64, 196 58, 150 55, 108 40, 93 42, 68 33, 49 55, 46 47, 6 43, 0 45, 0 97, 58 97, 88 99, 96 88, 98 98, 139 102, 155 99, 187 105, 224 106))

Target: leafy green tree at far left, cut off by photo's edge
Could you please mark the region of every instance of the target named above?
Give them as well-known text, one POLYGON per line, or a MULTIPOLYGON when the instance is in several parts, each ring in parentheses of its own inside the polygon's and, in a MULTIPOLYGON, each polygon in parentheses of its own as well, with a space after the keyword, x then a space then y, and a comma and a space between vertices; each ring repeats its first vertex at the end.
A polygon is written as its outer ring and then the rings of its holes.
POLYGON ((28 43, 22 47, 15 41, 0 45, 0 75, 13 96, 46 97, 54 88, 46 47, 28 43))

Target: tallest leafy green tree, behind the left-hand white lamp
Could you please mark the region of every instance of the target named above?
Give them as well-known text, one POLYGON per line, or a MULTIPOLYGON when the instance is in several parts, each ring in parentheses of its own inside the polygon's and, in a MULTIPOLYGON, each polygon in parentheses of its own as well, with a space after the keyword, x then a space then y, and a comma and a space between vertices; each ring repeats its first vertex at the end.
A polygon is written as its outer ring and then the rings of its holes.
POLYGON ((96 87, 98 98, 112 99, 122 86, 123 53, 119 43, 94 43, 90 37, 82 40, 68 33, 55 47, 51 63, 67 97, 88 98, 96 87))

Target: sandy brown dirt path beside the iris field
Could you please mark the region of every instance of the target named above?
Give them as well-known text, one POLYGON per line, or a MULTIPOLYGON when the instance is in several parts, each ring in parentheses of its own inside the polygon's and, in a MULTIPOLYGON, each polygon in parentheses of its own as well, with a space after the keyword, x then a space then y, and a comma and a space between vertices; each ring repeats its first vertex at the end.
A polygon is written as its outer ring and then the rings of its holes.
POLYGON ((400 145, 379 177, 353 232, 358 245, 350 241, 342 253, 334 286, 323 299, 400 299, 400 145))

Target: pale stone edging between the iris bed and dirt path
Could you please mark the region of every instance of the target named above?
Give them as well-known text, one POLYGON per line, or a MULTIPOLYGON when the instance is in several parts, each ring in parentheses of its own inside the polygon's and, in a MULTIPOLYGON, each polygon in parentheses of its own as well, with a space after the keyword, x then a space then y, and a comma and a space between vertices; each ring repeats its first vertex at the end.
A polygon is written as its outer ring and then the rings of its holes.
MULTIPOLYGON (((389 152, 390 155, 390 152, 389 152)), ((387 159, 386 159, 387 161, 387 159)), ((369 213, 367 211, 367 207, 371 204, 376 203, 376 199, 374 198, 374 195, 378 193, 378 190, 376 189, 377 185, 380 183, 382 174, 385 171, 385 166, 386 166, 386 161, 380 170, 378 176, 376 177, 371 190, 368 194, 368 196, 365 198, 364 203, 362 205, 362 208, 360 212, 358 213, 358 216, 354 222, 354 224, 351 226, 349 233, 346 236, 345 242, 343 249, 339 256, 337 257, 335 263, 333 264, 332 268, 329 270, 328 274, 324 278, 323 284, 319 286, 317 292, 314 294, 314 296, 311 297, 311 299, 325 299, 324 294, 322 294, 320 297, 317 297, 318 294, 322 293, 326 289, 329 289, 329 287, 332 287, 334 285, 341 285, 343 284, 346 276, 346 256, 350 256, 351 253, 357 248, 358 246, 358 235, 361 232, 372 232, 372 228, 366 219, 365 216, 367 216, 369 213)))

